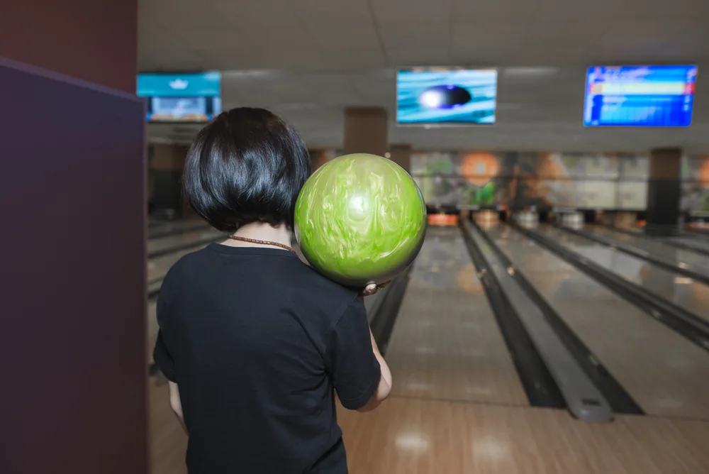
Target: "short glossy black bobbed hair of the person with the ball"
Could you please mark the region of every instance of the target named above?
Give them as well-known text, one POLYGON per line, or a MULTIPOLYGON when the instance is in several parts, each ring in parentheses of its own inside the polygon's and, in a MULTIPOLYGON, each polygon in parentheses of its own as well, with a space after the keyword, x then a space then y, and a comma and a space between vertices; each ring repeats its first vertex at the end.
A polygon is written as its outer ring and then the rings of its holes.
POLYGON ((184 166, 184 193, 220 231, 253 222, 292 229, 310 172, 308 149, 291 126, 267 110, 240 107, 197 134, 184 166))

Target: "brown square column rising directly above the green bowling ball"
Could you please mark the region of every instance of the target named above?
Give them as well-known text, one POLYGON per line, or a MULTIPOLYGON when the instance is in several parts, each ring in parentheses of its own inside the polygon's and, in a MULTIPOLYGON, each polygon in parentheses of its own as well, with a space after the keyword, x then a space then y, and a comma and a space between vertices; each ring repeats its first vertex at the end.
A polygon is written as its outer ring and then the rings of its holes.
POLYGON ((380 107, 352 107, 345 109, 345 155, 372 153, 384 156, 389 142, 385 109, 380 107))

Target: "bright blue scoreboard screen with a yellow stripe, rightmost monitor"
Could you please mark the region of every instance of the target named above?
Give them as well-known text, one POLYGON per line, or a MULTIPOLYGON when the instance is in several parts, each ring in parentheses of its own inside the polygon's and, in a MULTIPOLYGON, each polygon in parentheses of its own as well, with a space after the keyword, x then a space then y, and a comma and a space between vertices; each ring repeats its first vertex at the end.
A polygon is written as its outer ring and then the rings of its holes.
POLYGON ((696 66, 589 67, 586 126, 686 127, 696 66))

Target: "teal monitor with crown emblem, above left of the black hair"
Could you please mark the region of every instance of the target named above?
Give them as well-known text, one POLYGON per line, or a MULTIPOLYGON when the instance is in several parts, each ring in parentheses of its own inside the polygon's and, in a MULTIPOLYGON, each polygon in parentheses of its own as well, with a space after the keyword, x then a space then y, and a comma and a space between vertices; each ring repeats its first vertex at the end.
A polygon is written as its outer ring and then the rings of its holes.
POLYGON ((149 122, 206 122, 221 113, 219 72, 138 75, 149 122))

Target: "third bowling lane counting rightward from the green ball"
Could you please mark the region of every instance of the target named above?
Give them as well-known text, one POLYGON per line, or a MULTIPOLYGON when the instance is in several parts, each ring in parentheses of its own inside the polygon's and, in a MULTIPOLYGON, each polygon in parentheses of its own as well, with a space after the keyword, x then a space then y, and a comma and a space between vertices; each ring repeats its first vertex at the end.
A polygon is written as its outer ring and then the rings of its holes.
POLYGON ((709 287, 707 285, 554 226, 540 225, 535 231, 554 239, 557 243, 583 255, 588 260, 593 260, 598 265, 608 268, 625 280, 640 285, 659 297, 709 320, 709 287))

